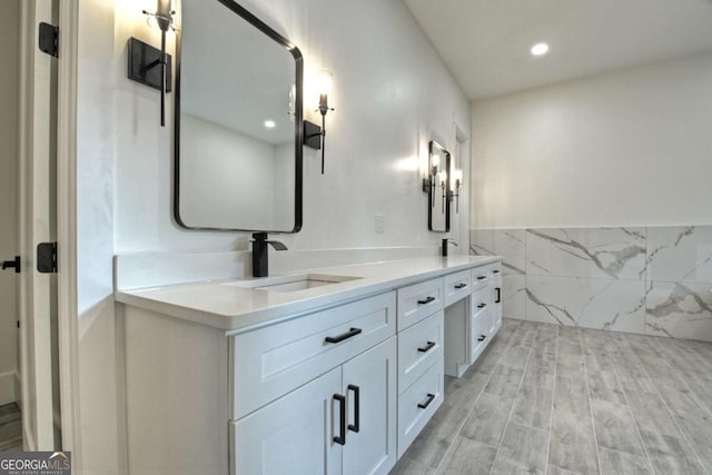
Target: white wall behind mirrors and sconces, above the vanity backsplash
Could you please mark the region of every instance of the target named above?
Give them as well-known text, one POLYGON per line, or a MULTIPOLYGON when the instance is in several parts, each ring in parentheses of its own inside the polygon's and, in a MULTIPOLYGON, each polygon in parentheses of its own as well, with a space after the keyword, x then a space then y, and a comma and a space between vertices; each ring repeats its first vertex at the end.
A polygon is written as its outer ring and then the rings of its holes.
MULTIPOLYGON (((307 69, 334 73, 326 175, 319 154, 305 149, 303 230, 280 240, 295 249, 437 246, 418 160, 429 139, 454 147, 453 115, 469 129, 469 107, 407 8, 376 0, 241 3, 293 40, 307 69), (376 214, 386 216, 384 234, 375 232, 376 214)), ((185 231, 171 221, 171 131, 157 126, 158 93, 122 70, 128 37, 157 43, 158 33, 130 4, 117 2, 115 38, 116 251, 248 249, 246 234, 185 231)))

